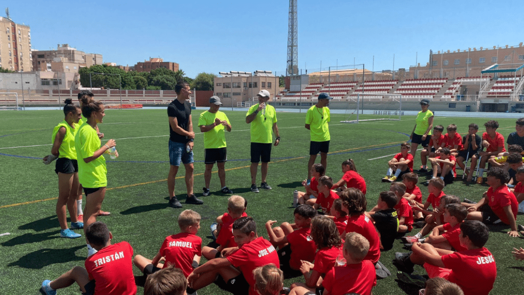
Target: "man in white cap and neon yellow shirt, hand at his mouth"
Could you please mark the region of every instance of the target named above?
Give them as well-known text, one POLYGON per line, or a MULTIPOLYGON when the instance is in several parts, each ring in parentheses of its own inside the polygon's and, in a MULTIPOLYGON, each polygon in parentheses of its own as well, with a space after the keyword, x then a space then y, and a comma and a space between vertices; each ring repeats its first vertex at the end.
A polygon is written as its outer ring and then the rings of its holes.
POLYGON ((277 112, 275 107, 266 104, 269 100, 269 91, 262 90, 258 94, 258 103, 251 106, 246 114, 246 123, 251 124, 251 191, 257 193, 258 188, 255 184, 257 178, 257 166, 261 161, 260 173, 262 183, 260 187, 270 190, 271 187, 266 182, 267 166, 271 160, 271 143, 273 133, 277 136, 275 146, 280 143, 280 135, 277 127, 277 112))

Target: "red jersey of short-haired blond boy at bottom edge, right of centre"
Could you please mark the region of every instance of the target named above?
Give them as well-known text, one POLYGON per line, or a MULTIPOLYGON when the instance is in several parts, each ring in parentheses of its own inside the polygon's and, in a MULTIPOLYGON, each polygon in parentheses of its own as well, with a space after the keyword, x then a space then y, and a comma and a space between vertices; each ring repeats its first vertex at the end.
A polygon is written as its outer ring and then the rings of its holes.
POLYGON ((357 293, 369 295, 377 285, 375 266, 369 260, 358 264, 335 266, 322 281, 322 286, 330 295, 357 293))

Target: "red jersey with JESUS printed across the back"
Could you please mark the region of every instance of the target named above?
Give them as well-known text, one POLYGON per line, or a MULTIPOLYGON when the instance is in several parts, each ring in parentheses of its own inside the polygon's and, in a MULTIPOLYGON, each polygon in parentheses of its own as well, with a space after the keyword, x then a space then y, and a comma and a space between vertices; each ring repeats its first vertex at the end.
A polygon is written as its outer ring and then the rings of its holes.
POLYGON ((497 265, 486 248, 454 252, 442 256, 445 268, 451 269, 447 278, 464 291, 464 295, 488 295, 497 277, 497 265))

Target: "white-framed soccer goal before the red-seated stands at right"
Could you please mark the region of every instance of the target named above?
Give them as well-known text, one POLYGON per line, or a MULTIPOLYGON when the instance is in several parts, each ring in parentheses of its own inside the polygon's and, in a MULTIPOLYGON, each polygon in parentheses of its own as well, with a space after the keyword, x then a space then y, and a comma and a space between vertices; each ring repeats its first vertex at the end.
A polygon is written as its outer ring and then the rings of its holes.
POLYGON ((347 102, 347 117, 341 123, 365 121, 399 121, 402 112, 402 95, 388 93, 350 94, 347 102))

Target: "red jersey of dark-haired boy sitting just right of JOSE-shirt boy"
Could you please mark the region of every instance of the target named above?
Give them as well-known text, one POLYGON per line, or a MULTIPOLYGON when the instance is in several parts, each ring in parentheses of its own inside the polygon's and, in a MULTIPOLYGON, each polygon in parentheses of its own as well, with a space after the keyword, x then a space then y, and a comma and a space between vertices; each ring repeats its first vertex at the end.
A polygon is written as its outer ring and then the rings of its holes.
POLYGON ((308 226, 299 228, 286 236, 289 246, 291 247, 289 266, 292 269, 300 269, 300 266, 302 265, 300 260, 313 262, 315 259, 316 245, 310 237, 310 234, 311 230, 308 226))

